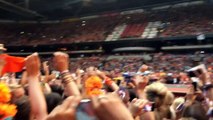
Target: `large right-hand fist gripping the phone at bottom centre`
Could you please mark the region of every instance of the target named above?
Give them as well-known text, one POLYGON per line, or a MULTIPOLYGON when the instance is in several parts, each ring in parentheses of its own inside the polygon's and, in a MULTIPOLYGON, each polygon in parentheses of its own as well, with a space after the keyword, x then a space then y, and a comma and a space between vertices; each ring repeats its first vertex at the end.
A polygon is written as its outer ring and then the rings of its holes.
POLYGON ((92 104, 100 120, 133 120, 131 113, 116 94, 92 98, 92 104))

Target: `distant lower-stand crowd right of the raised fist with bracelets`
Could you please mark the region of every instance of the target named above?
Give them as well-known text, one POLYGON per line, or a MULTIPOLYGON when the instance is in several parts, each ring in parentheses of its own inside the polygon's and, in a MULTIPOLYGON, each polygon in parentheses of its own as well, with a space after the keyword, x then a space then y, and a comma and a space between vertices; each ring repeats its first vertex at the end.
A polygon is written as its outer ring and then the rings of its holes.
POLYGON ((211 67, 212 54, 164 54, 154 53, 149 55, 115 55, 115 56, 95 56, 71 59, 71 71, 77 68, 85 69, 89 66, 95 66, 101 70, 111 71, 119 69, 120 72, 137 72, 142 64, 150 66, 154 72, 165 71, 181 72, 189 69, 194 64, 192 61, 202 60, 207 66, 211 67), (148 57, 148 58, 147 58, 148 57), (194 60, 195 59, 195 60, 194 60), (181 63, 179 61, 184 61, 181 63), (162 64, 159 64, 162 63, 162 64), (83 66, 82 66, 83 65, 83 66), (81 67, 80 67, 81 66, 81 67), (82 68, 83 67, 83 68, 82 68))

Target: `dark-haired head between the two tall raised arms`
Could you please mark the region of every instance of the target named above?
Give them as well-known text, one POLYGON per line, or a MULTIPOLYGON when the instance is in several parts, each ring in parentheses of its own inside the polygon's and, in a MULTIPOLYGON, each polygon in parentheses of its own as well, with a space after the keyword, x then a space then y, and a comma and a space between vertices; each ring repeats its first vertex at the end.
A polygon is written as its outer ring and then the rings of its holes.
POLYGON ((62 103, 63 99, 58 93, 45 94, 47 110, 50 113, 56 106, 62 103))

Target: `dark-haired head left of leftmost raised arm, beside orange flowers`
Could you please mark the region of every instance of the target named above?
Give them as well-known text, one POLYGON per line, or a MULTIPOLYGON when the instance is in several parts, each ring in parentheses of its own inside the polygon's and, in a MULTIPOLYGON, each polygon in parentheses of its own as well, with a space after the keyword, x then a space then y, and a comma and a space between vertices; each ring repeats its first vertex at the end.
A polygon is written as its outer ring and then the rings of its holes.
POLYGON ((17 113, 14 120, 29 120, 30 119, 30 100, 27 96, 19 98, 15 105, 17 106, 17 113))

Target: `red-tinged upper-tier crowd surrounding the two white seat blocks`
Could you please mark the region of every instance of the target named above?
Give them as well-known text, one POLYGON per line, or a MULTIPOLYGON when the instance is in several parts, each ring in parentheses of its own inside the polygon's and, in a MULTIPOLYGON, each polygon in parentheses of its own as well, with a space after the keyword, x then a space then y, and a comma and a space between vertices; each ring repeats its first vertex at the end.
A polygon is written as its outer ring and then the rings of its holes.
POLYGON ((126 24, 119 38, 140 38, 148 22, 161 21, 158 36, 198 35, 213 32, 211 5, 114 15, 54 24, 1 25, 1 43, 8 45, 58 44, 103 41, 114 28, 126 24))

